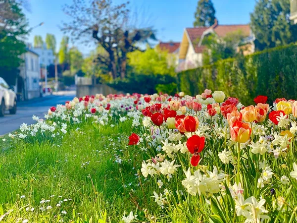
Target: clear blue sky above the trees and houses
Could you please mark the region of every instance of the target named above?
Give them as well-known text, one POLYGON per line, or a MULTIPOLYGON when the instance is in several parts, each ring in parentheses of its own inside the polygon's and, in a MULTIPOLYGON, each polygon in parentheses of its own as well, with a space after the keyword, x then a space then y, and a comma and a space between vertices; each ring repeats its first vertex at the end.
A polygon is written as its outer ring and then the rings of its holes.
MULTIPOLYGON (((32 30, 28 42, 33 43, 34 35, 41 35, 44 39, 47 33, 54 34, 57 40, 57 50, 63 33, 58 27, 69 17, 62 12, 64 4, 71 4, 72 0, 28 0, 31 12, 25 11, 30 27, 44 22, 44 25, 32 30)), ((113 0, 114 4, 126 0, 113 0)), ((176 41, 182 39, 184 28, 193 27, 194 12, 198 0, 130 0, 132 11, 137 11, 139 17, 145 15, 145 25, 153 26, 157 30, 157 38, 161 41, 176 41)), ((212 0, 216 9, 219 24, 247 24, 249 13, 253 11, 255 0, 212 0)), ((75 46, 85 56, 93 47, 85 47, 79 43, 75 46)))

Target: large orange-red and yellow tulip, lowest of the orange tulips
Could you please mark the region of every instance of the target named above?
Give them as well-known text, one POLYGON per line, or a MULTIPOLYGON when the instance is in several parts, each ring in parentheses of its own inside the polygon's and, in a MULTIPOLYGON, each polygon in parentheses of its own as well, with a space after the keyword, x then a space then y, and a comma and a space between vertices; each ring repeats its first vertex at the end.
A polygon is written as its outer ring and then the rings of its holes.
POLYGON ((251 134, 249 124, 242 121, 236 121, 230 127, 231 139, 235 142, 246 143, 251 134))

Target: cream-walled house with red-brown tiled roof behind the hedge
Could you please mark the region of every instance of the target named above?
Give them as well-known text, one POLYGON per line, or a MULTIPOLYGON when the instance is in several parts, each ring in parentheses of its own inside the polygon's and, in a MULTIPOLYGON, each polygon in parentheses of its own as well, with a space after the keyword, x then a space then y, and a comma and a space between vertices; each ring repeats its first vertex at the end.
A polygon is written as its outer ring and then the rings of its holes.
POLYGON ((218 37, 225 37, 227 34, 241 31, 245 39, 237 50, 243 50, 244 55, 254 52, 254 36, 248 24, 246 25, 219 25, 217 20, 210 27, 186 28, 179 48, 178 71, 202 66, 203 52, 207 50, 202 45, 202 40, 210 33, 218 37))

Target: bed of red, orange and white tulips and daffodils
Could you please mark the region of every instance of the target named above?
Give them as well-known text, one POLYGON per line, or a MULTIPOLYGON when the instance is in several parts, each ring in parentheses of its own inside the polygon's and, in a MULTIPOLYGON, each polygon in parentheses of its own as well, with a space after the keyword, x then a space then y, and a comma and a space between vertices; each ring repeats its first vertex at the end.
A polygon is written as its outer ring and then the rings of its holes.
MULTIPOLYGON (((72 143, 72 137, 77 142, 75 134, 92 141, 105 137, 107 128, 129 134, 124 140, 107 135, 109 143, 104 145, 109 149, 91 153, 92 162, 111 155, 122 181, 118 189, 127 198, 117 201, 121 207, 113 211, 100 209, 114 216, 108 220, 101 215, 103 222, 296 222, 297 101, 275 99, 271 106, 266 102, 267 97, 258 96, 255 106, 244 107, 236 98, 207 89, 196 97, 182 92, 175 97, 86 96, 50 108, 46 120, 34 117, 36 124, 24 124, 19 133, 9 134, 10 144, 63 145, 72 143), (125 189, 129 186, 130 192, 125 189)), ((88 146, 89 140, 83 140, 87 150, 97 151, 88 146)), ((69 153, 73 156, 73 149, 69 153)), ((86 159, 80 168, 89 164, 86 159)), ((100 190, 93 181, 90 188, 100 190)))

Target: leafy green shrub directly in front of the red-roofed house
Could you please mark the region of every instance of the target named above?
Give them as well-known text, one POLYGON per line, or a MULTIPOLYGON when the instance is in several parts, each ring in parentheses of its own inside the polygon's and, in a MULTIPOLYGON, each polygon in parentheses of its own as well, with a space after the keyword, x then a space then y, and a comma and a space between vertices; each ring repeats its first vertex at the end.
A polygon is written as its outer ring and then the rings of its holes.
POLYGON ((203 52, 203 64, 207 65, 220 59, 237 56, 237 46, 243 39, 244 35, 241 30, 228 33, 220 39, 212 33, 205 36, 202 40, 202 45, 206 46, 207 50, 203 52))

